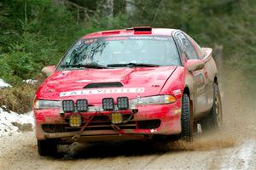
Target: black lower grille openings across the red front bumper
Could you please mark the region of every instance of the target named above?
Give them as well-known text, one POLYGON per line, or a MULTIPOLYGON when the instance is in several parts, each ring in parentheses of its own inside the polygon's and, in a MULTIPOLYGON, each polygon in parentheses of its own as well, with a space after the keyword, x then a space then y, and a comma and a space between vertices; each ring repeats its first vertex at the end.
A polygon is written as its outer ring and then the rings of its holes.
MULTIPOLYGON (((123 115, 124 121, 128 121, 125 123, 117 124, 120 129, 152 129, 160 127, 160 120, 148 120, 148 121, 129 121, 131 114, 123 115)), ((66 119, 68 121, 68 119, 66 119)), ((61 133, 61 132, 77 132, 83 126, 84 123, 80 127, 70 127, 68 123, 60 123, 60 124, 44 124, 42 128, 45 133, 61 133)), ((112 123, 108 116, 94 116, 90 121, 87 127, 84 128, 86 130, 113 130, 111 126, 112 123)))

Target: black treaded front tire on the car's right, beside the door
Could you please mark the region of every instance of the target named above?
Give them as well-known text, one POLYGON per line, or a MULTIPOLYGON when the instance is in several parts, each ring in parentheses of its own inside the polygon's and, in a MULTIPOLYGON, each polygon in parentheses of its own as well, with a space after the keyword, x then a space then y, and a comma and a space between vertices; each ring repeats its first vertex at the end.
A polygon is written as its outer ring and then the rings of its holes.
POLYGON ((190 141, 193 139, 193 118, 191 116, 191 108, 189 104, 189 95, 183 94, 182 99, 182 114, 181 114, 181 126, 182 133, 181 139, 190 141))

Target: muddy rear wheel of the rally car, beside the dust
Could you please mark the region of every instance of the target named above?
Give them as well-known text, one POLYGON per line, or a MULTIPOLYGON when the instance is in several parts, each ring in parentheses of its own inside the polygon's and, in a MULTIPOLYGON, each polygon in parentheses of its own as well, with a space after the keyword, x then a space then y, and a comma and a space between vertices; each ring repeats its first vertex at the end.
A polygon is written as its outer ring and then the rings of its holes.
POLYGON ((213 104, 211 111, 201 120, 201 129, 204 133, 218 130, 223 123, 221 98, 218 85, 213 83, 213 104))

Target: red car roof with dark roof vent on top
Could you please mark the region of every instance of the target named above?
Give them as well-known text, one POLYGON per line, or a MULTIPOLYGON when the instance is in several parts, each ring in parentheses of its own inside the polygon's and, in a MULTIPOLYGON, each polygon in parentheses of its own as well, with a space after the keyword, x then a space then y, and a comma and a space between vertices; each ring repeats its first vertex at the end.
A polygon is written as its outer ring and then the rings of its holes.
POLYGON ((97 31, 82 37, 119 37, 119 36, 172 36, 172 32, 177 31, 176 29, 170 28, 151 28, 150 26, 131 27, 122 30, 109 30, 109 31, 97 31))

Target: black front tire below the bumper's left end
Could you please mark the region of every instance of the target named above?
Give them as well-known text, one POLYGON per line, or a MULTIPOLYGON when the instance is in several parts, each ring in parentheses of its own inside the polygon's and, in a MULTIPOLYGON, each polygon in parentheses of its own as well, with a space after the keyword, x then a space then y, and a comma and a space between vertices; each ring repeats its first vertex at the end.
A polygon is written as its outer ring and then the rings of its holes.
POLYGON ((57 144, 53 140, 38 140, 39 156, 55 156, 57 154, 57 144))

